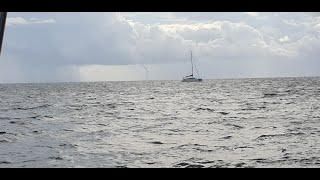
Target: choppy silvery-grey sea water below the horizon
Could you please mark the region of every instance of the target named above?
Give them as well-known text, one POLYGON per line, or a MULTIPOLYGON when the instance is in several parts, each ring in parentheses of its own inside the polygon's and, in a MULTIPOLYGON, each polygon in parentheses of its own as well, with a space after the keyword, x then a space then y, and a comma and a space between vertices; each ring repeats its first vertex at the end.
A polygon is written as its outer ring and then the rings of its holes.
POLYGON ((0 167, 320 167, 320 78, 2 84, 0 167))

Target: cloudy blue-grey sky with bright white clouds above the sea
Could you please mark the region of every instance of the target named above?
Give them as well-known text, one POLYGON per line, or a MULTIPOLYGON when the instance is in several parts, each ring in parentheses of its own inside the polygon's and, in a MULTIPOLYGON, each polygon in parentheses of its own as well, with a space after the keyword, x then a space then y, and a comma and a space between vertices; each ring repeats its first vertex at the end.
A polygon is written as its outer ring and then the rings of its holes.
POLYGON ((320 75, 320 13, 10 12, 0 83, 320 75))

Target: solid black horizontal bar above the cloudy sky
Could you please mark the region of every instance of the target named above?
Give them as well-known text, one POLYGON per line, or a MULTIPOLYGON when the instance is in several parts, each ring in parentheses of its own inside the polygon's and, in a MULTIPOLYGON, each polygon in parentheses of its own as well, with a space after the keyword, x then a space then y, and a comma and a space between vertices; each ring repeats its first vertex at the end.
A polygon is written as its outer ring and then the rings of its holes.
POLYGON ((316 0, 1 0, 6 12, 318 12, 316 0))

